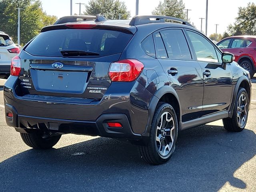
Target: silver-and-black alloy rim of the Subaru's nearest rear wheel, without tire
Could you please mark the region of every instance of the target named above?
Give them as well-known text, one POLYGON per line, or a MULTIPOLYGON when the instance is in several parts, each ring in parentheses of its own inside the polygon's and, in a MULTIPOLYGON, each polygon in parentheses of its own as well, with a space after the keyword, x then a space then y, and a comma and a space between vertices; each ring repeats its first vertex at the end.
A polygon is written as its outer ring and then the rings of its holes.
POLYGON ((174 144, 175 123, 170 112, 164 112, 158 120, 156 129, 156 146, 158 153, 166 156, 174 144))

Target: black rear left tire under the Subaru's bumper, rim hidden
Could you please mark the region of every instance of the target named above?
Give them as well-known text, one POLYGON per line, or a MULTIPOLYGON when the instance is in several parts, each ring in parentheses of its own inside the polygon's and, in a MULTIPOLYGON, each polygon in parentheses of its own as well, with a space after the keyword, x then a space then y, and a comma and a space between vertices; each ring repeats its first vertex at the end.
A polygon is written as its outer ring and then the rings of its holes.
POLYGON ((50 136, 43 133, 20 133, 24 143, 34 149, 52 148, 59 140, 61 135, 50 136))

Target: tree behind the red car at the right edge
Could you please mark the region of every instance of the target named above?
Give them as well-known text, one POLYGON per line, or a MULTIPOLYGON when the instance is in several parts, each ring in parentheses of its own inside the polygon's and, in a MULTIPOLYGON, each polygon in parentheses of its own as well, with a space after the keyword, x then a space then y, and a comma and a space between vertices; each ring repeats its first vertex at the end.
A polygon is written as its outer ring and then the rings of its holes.
POLYGON ((239 7, 238 17, 233 25, 228 26, 228 32, 232 35, 256 35, 256 4, 239 7))

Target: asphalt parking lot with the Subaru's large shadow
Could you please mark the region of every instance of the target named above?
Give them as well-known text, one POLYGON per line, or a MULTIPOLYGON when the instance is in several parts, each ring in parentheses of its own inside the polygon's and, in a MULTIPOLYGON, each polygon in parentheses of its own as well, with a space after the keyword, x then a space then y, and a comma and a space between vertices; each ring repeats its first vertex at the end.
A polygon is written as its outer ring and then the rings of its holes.
POLYGON ((246 129, 222 121, 180 132, 171 160, 144 163, 136 146, 110 138, 64 135, 33 150, 6 125, 0 80, 0 191, 256 191, 256 78, 246 129))

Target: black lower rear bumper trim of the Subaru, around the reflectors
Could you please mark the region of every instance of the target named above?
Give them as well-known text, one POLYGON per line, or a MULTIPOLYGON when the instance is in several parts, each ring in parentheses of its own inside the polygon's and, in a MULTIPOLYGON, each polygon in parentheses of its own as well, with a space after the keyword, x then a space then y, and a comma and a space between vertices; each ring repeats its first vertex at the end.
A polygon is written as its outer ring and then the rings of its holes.
POLYGON ((42 130, 60 134, 74 133, 133 140, 142 138, 140 134, 132 131, 126 114, 102 114, 96 121, 65 120, 20 115, 14 106, 5 104, 5 113, 10 112, 13 117, 6 116, 6 123, 8 126, 15 127, 18 132, 28 133, 32 130, 42 130), (107 122, 119 122, 122 127, 112 128, 107 122))

